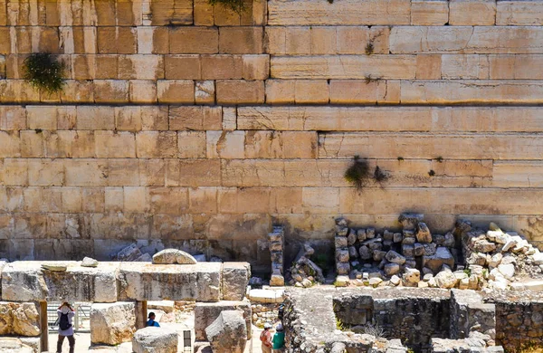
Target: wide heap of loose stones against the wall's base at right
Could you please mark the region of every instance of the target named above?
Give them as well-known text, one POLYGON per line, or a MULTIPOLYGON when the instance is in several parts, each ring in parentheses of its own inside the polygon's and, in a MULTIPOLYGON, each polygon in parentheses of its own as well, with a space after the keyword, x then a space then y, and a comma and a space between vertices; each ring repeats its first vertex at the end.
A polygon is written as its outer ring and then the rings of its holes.
POLYGON ((400 215, 401 232, 376 233, 338 218, 336 285, 507 289, 515 286, 516 273, 533 278, 542 272, 543 253, 519 234, 495 224, 488 232, 472 231, 467 221, 432 234, 423 221, 424 215, 400 215))

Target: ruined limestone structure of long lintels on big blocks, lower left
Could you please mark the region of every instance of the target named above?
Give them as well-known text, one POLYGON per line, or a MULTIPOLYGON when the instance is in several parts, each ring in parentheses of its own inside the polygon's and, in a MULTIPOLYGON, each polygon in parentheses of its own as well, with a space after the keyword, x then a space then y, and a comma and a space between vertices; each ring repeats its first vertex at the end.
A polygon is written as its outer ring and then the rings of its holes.
MULTIPOLYGON (((137 351, 148 351, 146 340, 141 340, 145 332, 139 330, 145 327, 148 301, 195 301, 196 339, 203 341, 209 339, 205 329, 223 311, 234 310, 233 315, 245 322, 243 337, 251 339, 252 308, 245 298, 251 272, 246 262, 81 264, 2 262, 0 349, 37 353, 51 348, 54 342, 48 342, 48 301, 91 302, 92 345, 115 348, 132 341, 137 351)), ((220 325, 215 325, 214 336, 223 334, 220 325)), ((155 339, 163 338, 158 335, 155 339)), ((176 344, 176 340, 168 342, 172 347, 176 344)))

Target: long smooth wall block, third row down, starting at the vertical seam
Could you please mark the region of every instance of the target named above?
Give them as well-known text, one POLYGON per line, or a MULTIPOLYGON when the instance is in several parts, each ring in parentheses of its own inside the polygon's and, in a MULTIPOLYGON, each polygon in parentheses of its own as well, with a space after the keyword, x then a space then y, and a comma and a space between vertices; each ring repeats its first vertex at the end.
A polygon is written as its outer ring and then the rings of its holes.
POLYGON ((272 57, 274 79, 414 79, 413 55, 336 55, 272 57))

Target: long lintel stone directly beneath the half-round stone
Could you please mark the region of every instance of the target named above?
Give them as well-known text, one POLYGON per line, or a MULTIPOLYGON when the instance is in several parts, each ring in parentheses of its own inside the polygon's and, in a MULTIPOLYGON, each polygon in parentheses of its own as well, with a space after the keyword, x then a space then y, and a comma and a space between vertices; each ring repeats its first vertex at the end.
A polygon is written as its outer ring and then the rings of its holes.
POLYGON ((121 301, 219 301, 220 262, 163 265, 145 262, 121 263, 121 301))

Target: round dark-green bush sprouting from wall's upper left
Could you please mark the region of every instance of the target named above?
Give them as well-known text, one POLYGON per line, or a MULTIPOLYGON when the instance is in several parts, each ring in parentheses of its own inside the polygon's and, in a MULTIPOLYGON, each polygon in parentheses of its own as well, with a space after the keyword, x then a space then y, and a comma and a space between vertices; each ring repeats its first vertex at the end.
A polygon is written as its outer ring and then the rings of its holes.
POLYGON ((48 52, 36 52, 24 59, 24 80, 33 88, 46 93, 62 91, 64 78, 62 72, 65 69, 63 62, 57 61, 48 52))

